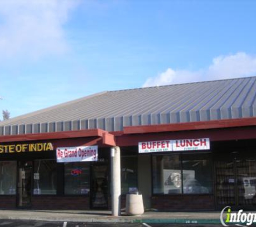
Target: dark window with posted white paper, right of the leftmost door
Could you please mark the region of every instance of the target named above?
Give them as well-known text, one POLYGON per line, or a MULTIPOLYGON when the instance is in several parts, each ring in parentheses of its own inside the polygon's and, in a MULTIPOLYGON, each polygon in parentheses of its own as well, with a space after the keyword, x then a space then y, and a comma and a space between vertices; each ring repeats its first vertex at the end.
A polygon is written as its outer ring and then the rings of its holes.
POLYGON ((34 161, 34 195, 55 195, 57 188, 57 164, 53 160, 34 161))

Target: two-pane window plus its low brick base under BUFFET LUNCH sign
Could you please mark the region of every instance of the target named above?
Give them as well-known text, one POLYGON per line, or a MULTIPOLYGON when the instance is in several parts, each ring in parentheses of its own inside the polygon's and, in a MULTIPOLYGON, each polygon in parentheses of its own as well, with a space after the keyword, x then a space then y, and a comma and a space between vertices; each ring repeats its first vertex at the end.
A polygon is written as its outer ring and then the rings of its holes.
POLYGON ((211 153, 190 151, 153 154, 152 167, 152 208, 159 210, 215 208, 211 153))

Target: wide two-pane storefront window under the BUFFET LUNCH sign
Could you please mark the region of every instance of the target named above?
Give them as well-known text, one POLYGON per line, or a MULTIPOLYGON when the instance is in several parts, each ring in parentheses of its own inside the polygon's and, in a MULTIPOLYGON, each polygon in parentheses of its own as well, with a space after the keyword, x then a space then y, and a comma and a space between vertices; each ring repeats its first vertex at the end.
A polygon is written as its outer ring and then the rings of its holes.
POLYGON ((154 194, 212 193, 209 154, 172 154, 153 157, 154 194), (181 161, 182 158, 182 161, 181 161))

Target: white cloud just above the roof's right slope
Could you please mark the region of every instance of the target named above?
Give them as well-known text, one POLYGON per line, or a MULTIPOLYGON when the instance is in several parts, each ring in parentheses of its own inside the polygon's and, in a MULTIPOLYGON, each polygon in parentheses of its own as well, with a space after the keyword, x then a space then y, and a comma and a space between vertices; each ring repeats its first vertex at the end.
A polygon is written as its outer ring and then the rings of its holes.
POLYGON ((207 69, 190 71, 168 68, 156 77, 147 79, 143 87, 247 76, 256 76, 256 56, 239 52, 234 55, 214 58, 212 64, 207 69))

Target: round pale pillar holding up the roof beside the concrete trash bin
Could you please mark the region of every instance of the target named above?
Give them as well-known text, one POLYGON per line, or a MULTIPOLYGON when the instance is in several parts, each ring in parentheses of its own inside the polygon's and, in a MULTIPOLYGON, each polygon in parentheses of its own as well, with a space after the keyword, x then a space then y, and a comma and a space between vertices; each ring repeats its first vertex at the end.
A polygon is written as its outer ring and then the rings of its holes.
POLYGON ((111 148, 112 215, 121 215, 120 147, 111 148))

